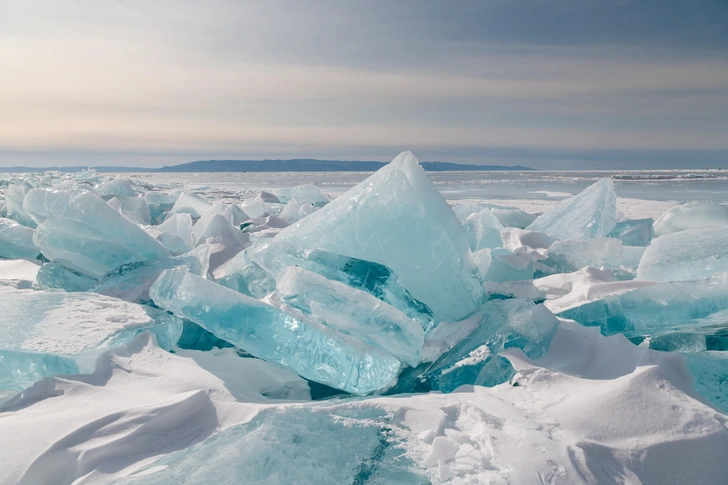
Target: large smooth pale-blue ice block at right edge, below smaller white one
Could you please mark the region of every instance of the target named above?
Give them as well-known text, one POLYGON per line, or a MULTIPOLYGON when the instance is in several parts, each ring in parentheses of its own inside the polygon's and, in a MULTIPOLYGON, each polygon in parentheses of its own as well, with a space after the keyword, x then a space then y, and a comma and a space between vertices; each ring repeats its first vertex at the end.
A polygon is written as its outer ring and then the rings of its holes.
POLYGON ((636 278, 682 281, 728 271, 728 228, 693 229, 655 238, 647 246, 636 278))

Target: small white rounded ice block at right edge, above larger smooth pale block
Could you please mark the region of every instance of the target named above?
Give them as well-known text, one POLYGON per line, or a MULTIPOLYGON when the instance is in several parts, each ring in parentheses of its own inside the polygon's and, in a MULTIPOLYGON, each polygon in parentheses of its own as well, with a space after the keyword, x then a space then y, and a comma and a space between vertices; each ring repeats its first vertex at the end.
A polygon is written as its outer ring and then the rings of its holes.
POLYGON ((655 235, 690 229, 728 226, 728 207, 711 201, 693 201, 671 207, 655 221, 655 235))

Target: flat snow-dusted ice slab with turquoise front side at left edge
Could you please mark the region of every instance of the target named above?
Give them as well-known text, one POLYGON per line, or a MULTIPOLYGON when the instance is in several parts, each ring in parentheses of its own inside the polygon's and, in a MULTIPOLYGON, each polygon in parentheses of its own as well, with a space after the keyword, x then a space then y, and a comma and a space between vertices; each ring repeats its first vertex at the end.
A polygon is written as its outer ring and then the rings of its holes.
POLYGON ((182 322, 166 312, 96 293, 0 285, 0 315, 0 390, 90 372, 99 352, 142 330, 171 349, 182 331, 182 322))

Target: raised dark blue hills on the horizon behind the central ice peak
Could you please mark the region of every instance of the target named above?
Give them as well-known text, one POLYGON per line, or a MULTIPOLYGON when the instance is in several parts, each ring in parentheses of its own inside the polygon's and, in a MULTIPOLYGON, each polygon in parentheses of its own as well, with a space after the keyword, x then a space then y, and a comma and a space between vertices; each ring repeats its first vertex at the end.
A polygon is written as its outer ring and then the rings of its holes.
MULTIPOLYGON (((375 172, 388 162, 317 160, 200 160, 162 167, 160 172, 375 172)), ((475 172, 483 170, 533 170, 516 165, 462 165, 449 162, 420 162, 429 172, 475 172)))

